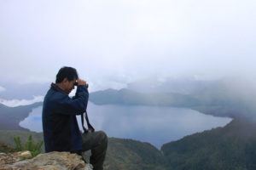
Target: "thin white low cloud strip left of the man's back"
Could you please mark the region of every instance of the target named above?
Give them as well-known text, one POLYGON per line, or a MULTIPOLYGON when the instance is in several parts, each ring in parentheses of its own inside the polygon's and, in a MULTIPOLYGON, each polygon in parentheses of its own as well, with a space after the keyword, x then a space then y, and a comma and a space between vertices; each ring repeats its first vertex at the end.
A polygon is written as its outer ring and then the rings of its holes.
POLYGON ((20 105, 32 105, 36 102, 44 101, 44 96, 33 96, 34 99, 0 99, 0 103, 9 107, 20 105))

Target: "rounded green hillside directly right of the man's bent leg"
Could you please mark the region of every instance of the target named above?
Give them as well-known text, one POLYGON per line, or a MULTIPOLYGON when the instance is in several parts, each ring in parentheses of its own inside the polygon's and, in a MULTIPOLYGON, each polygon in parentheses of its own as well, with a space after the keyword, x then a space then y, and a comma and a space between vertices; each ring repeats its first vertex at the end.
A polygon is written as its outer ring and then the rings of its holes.
POLYGON ((165 170, 165 158, 152 144, 132 139, 108 139, 106 170, 165 170))

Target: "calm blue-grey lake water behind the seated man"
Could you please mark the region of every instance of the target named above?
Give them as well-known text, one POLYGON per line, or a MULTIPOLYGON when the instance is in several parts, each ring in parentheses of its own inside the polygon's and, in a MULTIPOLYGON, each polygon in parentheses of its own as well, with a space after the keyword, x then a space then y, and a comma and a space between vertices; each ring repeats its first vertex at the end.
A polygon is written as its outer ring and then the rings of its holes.
MULTIPOLYGON (((108 137, 149 142, 158 149, 162 144, 192 133, 224 127, 231 121, 228 117, 163 106, 94 105, 89 102, 87 112, 93 127, 105 131, 108 137)), ((82 129, 80 116, 77 119, 82 129)), ((42 106, 33 109, 20 126, 42 132, 42 106)))

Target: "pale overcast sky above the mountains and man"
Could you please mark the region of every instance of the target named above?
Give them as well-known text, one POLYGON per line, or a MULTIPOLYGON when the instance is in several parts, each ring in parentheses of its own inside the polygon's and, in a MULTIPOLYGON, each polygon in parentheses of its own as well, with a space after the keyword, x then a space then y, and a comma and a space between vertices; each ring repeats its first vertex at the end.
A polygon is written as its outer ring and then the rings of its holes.
MULTIPOLYGON (((0 78, 92 88, 148 77, 256 77, 255 0, 0 0, 0 78)), ((0 88, 1 90, 1 88, 0 88)))

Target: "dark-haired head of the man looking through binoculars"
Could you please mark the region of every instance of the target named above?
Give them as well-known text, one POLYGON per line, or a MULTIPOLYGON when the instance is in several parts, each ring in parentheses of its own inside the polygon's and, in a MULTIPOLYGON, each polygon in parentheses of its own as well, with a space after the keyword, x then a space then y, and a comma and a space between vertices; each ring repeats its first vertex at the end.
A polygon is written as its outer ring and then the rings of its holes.
POLYGON ((64 66, 56 75, 55 83, 67 94, 74 88, 74 83, 79 79, 77 71, 72 67, 64 66))

